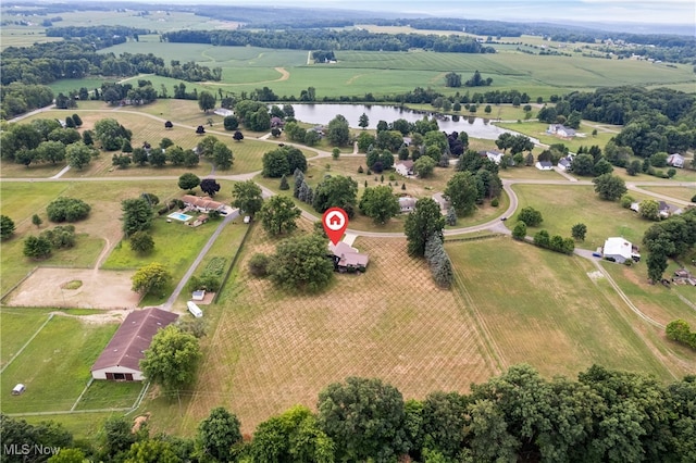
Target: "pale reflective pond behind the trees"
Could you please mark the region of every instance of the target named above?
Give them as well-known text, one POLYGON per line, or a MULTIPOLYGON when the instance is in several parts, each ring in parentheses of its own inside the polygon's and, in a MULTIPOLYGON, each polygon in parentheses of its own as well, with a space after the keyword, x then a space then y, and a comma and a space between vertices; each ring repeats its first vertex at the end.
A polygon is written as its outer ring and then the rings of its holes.
MULTIPOLYGON (((427 116, 428 118, 434 115, 431 112, 415 112, 409 109, 399 107, 385 107, 385 105, 366 105, 366 104, 293 104, 295 109, 295 118, 310 124, 323 124, 336 117, 337 114, 341 114, 348 121, 348 124, 353 128, 360 128, 358 122, 362 113, 365 113, 370 120, 368 128, 376 128, 380 121, 391 123, 398 118, 407 120, 408 122, 417 122, 427 116)), ((496 140, 500 134, 510 133, 518 135, 513 130, 497 127, 488 120, 481 117, 459 116, 459 121, 455 121, 456 116, 445 116, 438 118, 437 124, 442 132, 448 134, 452 132, 465 132, 467 135, 473 138, 483 138, 486 140, 496 140)), ((532 141, 537 141, 532 139, 532 141)))

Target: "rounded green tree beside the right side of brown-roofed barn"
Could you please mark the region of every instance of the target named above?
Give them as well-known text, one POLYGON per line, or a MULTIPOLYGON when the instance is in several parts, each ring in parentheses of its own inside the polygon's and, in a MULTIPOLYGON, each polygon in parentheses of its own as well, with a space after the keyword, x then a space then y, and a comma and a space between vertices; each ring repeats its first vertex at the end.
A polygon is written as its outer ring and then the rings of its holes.
POLYGON ((140 360, 146 378, 165 391, 176 391, 194 381, 201 358, 198 339, 176 325, 160 329, 140 360))

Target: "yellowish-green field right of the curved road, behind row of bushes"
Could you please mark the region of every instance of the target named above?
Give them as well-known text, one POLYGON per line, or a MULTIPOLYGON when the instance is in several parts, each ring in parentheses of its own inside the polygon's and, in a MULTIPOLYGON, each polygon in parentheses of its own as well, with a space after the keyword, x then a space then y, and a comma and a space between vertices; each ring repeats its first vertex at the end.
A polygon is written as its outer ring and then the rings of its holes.
MULTIPOLYGON (((544 217, 538 227, 527 228, 527 235, 534 236, 539 229, 552 235, 571 236, 571 228, 577 223, 587 225, 585 241, 575 246, 595 250, 611 236, 622 236, 631 242, 639 243, 644 232, 651 222, 639 218, 629 209, 623 209, 618 201, 602 201, 595 193, 594 187, 582 185, 514 185, 512 187, 519 198, 518 212, 522 208, 532 207, 544 217)), ((513 227, 517 213, 508 226, 513 227)))

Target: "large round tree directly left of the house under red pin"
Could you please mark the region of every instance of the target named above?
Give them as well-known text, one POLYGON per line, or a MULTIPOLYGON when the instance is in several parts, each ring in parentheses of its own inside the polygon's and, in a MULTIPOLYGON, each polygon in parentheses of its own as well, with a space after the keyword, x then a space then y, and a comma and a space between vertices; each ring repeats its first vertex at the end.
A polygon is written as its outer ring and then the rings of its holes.
MULTIPOLYGON (((263 207, 269 203, 266 201, 263 207)), ((326 239, 316 234, 281 241, 269 268, 271 280, 293 292, 318 292, 326 288, 334 275, 334 264, 326 256, 326 239)))

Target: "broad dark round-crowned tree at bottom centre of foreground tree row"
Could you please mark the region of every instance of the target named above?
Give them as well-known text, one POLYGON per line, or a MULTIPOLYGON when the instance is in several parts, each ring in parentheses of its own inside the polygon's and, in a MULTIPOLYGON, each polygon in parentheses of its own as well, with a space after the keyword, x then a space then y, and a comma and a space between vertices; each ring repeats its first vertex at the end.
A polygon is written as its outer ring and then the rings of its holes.
POLYGON ((394 386, 349 377, 321 391, 318 408, 338 461, 396 461, 408 450, 403 397, 394 386))

